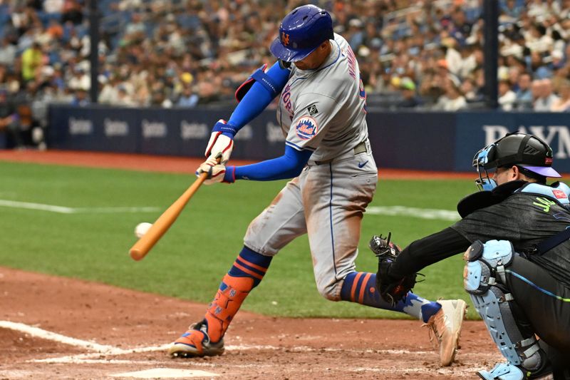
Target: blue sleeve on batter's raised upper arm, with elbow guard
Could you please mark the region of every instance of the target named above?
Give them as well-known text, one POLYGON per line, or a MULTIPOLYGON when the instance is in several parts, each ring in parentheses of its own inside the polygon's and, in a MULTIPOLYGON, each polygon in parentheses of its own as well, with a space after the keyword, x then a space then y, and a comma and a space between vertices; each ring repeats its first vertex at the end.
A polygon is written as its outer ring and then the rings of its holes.
MULTIPOLYGON (((238 103, 229 117, 228 123, 234 125, 239 130, 239 128, 256 118, 285 87, 285 84, 289 81, 290 73, 289 69, 282 68, 279 65, 279 61, 274 63, 265 74, 276 84, 276 93, 270 93, 267 88, 256 81, 252 88, 249 88, 242 101, 238 103)), ((233 136, 228 137, 233 138, 233 136)))

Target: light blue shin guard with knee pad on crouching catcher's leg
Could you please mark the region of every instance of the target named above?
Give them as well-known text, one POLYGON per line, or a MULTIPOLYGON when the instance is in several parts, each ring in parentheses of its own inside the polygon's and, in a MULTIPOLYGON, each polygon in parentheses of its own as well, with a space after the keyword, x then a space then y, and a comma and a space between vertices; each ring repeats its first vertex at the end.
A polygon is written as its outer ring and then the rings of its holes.
POLYGON ((510 364, 537 371, 544 363, 544 353, 534 335, 525 339, 519 329, 504 277, 504 267, 511 265, 514 255, 507 240, 489 240, 485 244, 477 240, 465 252, 463 284, 501 354, 510 364))

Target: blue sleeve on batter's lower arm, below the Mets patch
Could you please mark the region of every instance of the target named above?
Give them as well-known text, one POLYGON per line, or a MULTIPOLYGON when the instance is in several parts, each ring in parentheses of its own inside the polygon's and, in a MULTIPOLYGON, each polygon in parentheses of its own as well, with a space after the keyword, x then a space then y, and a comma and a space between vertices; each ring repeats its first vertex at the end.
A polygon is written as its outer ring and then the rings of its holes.
POLYGON ((285 146, 285 154, 271 160, 261 161, 252 165, 228 166, 224 182, 235 180, 271 181, 295 178, 309 161, 311 150, 296 150, 285 146))

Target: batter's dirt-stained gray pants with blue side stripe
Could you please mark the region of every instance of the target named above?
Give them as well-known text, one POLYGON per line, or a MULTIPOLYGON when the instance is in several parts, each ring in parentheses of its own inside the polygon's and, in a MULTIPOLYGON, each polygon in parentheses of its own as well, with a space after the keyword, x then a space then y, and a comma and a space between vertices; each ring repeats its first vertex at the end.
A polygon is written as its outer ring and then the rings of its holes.
POLYGON ((274 256, 294 238, 309 235, 318 292, 341 299, 342 279, 355 270, 361 220, 378 182, 370 145, 331 162, 309 160, 299 177, 249 225, 244 245, 274 256))

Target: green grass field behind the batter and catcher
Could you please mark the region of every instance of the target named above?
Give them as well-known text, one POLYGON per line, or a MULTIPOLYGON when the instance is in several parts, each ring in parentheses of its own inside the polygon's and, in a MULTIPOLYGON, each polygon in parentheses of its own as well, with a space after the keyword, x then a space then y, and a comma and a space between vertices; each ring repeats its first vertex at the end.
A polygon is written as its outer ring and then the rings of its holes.
MULTIPOLYGON (((140 262, 128 256, 139 222, 153 222, 193 181, 192 176, 126 170, 0 162, 0 200, 65 207, 154 206, 159 212, 58 214, 0 206, 0 265, 58 274, 197 302, 212 299, 242 247, 249 222, 271 202, 284 181, 202 188, 162 240, 140 262)), ((371 205, 455 210, 475 189, 470 180, 380 180, 371 205)), ((375 272, 368 240, 393 234, 405 246, 449 226, 445 220, 366 215, 356 260, 375 272)), ((460 255, 422 272, 415 292, 428 299, 462 298, 460 255)), ((385 317, 403 314, 329 302, 316 291, 309 244, 301 237, 274 259, 243 309, 287 317, 385 317)), ((470 308, 469 317, 475 317, 470 308)))

